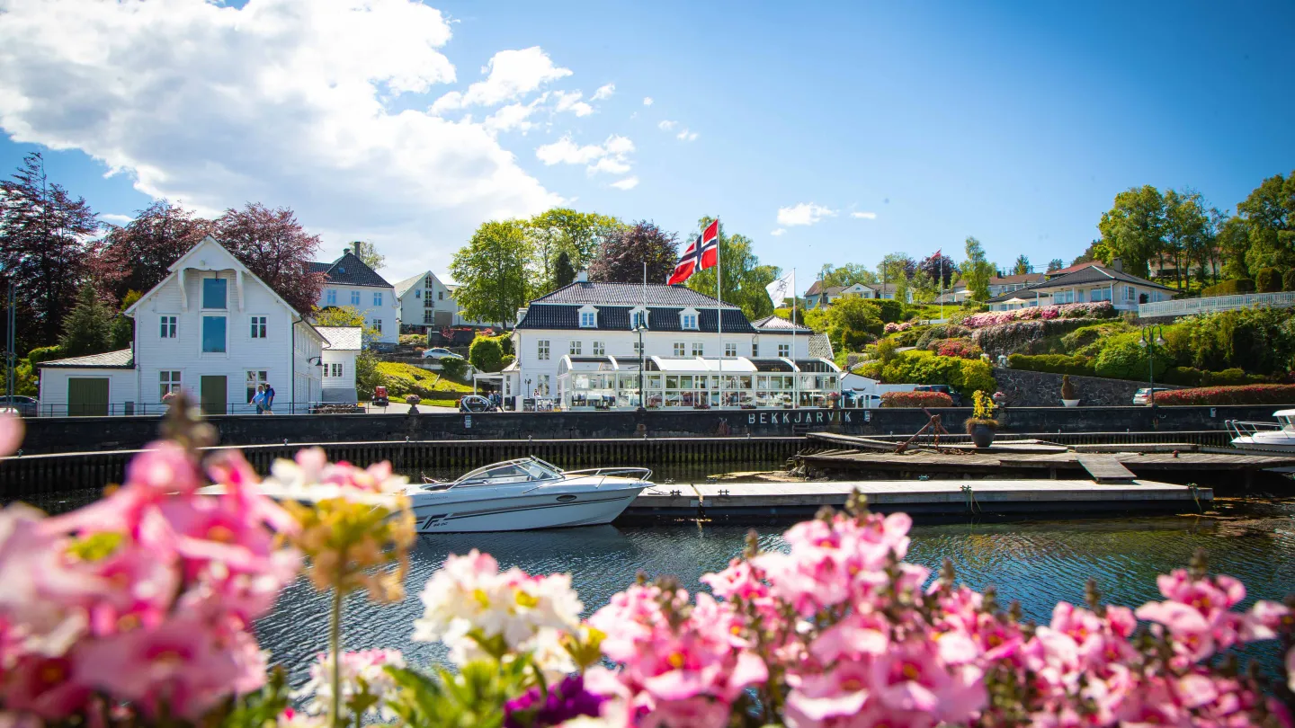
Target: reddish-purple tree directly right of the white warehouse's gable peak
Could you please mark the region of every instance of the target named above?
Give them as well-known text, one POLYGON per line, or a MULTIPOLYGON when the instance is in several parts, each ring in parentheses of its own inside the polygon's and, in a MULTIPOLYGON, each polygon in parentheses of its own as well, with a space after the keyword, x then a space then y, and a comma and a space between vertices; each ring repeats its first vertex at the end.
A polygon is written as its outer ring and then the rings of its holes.
POLYGON ((216 238, 298 312, 308 312, 320 297, 322 273, 312 273, 319 236, 307 234, 287 207, 271 210, 249 202, 216 220, 216 238))

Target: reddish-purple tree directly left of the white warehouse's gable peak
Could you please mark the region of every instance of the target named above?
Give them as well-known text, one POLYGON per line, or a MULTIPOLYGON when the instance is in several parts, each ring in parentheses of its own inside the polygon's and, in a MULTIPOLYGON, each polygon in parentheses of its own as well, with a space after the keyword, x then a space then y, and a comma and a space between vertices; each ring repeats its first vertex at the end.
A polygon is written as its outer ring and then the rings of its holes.
POLYGON ((214 229, 211 220, 159 199, 135 212, 130 223, 111 225, 95 256, 96 277, 114 295, 146 291, 162 282, 172 263, 214 229))

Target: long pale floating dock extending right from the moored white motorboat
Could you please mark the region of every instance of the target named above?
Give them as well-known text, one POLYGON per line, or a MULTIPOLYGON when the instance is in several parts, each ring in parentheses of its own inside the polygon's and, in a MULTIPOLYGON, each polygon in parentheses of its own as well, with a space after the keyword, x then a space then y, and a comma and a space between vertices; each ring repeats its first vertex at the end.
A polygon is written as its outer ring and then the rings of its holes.
POLYGON ((840 508, 852 491, 870 509, 913 516, 1071 517, 1098 513, 1199 513, 1213 500, 1211 488, 1155 481, 828 481, 798 483, 670 483, 644 491, 620 521, 670 518, 769 521, 840 508))

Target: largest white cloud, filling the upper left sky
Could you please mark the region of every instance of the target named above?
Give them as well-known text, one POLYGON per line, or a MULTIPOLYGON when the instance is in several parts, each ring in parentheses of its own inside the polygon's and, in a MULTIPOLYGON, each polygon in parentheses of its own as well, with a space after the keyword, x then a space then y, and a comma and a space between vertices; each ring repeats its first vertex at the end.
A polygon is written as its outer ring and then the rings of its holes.
MULTIPOLYGON (((324 255, 368 238, 399 269, 443 267, 482 220, 561 202, 484 124, 395 110, 403 95, 455 80, 440 51, 451 26, 422 3, 3 6, 0 128, 79 149, 145 194, 206 214, 290 206, 324 236, 324 255)), ((506 100, 570 73, 539 49, 505 53, 465 100, 506 100)))

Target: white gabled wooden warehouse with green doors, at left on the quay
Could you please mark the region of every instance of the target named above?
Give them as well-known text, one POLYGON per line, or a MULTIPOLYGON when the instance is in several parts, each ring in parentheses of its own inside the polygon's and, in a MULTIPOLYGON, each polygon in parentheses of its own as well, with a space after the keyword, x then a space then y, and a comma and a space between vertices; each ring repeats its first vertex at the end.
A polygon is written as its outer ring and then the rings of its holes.
POLYGON ((207 413, 247 413, 260 383, 276 412, 321 399, 324 337, 215 238, 170 271, 126 311, 131 348, 40 364, 43 415, 153 415, 180 390, 207 413))

